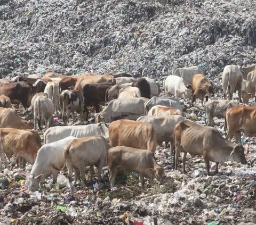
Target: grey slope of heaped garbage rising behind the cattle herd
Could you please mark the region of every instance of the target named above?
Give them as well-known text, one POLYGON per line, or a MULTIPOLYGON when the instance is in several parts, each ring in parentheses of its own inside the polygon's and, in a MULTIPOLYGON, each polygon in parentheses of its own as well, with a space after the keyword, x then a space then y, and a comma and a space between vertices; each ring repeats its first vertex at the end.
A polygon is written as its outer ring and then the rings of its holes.
POLYGON ((0 0, 0 74, 129 72, 207 76, 256 61, 251 0, 0 0))

